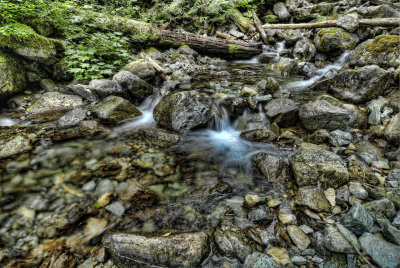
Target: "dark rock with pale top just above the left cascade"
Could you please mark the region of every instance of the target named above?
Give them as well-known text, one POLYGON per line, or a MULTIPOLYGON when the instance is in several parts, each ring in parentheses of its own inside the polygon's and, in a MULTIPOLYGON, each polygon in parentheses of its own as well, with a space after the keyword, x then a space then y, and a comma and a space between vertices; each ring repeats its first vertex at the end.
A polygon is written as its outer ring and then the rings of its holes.
POLYGON ((152 85, 128 71, 118 72, 114 75, 113 80, 138 100, 144 100, 153 93, 152 85))

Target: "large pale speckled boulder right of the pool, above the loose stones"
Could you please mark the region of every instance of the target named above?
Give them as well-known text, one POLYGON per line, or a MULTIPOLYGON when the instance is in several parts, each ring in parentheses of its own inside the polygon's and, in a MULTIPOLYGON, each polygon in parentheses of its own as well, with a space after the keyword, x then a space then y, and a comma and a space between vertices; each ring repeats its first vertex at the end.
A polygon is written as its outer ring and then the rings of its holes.
POLYGON ((325 150, 303 150, 289 158, 299 186, 322 184, 324 188, 338 188, 349 180, 349 172, 342 158, 325 150))

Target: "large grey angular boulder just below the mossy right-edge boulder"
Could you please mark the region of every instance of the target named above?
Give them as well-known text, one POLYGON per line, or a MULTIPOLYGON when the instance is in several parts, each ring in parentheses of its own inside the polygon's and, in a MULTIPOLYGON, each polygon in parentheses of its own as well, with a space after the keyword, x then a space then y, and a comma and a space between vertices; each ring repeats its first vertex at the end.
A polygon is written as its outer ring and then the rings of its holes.
POLYGON ((352 103, 364 103, 383 95, 393 84, 393 75, 377 65, 340 71, 322 82, 335 97, 352 103))

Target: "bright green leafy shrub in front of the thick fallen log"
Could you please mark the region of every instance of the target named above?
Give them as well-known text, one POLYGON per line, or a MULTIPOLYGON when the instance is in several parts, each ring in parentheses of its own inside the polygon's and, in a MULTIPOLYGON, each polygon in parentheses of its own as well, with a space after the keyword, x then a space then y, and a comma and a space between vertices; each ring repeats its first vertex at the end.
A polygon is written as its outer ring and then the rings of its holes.
POLYGON ((119 32, 96 32, 78 45, 70 45, 65 52, 70 72, 78 80, 111 76, 133 59, 128 41, 119 32))

